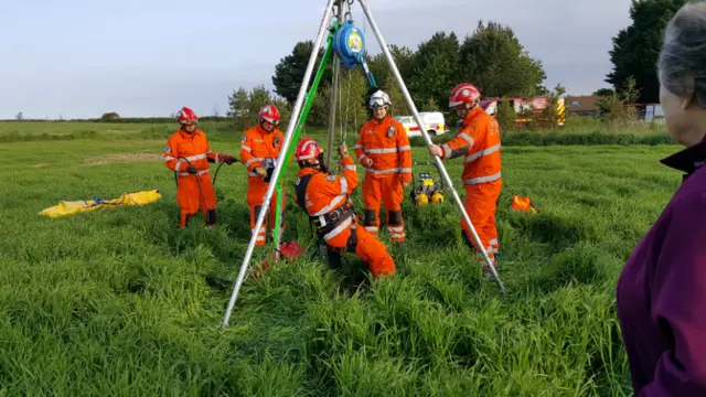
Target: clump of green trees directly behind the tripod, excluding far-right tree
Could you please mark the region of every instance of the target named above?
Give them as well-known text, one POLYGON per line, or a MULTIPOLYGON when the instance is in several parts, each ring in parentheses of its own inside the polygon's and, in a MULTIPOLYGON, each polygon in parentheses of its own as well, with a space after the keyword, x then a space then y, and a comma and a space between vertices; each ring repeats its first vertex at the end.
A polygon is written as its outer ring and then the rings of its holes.
MULTIPOLYGON (((313 51, 313 42, 295 45, 275 67, 270 93, 258 86, 252 90, 243 87, 228 96, 229 110, 238 125, 247 125, 258 106, 267 100, 276 101, 287 112, 293 106, 303 75, 313 51), (246 99, 248 98, 248 99, 246 99)), ((418 45, 416 51, 406 46, 389 45, 407 89, 421 110, 447 110, 450 90, 461 82, 472 82, 485 97, 533 97, 548 95, 543 86, 546 73, 539 60, 533 58, 510 26, 498 22, 479 21, 478 26, 463 40, 454 32, 436 32, 418 45)), ((324 55, 319 49, 318 68, 324 55)), ((338 60, 334 58, 334 62, 338 60)), ((383 53, 366 57, 378 88, 385 90, 393 103, 393 115, 409 115, 402 89, 394 78, 383 53)), ((314 68, 315 71, 315 68, 314 68)), ((328 126, 332 95, 333 63, 327 64, 312 105, 308 126, 328 126)), ((313 78, 312 78, 313 81, 313 78)), ((361 67, 341 68, 336 98, 336 126, 357 128, 370 118, 367 99, 371 90, 361 67)), ((449 115, 451 118, 454 115, 449 115)))

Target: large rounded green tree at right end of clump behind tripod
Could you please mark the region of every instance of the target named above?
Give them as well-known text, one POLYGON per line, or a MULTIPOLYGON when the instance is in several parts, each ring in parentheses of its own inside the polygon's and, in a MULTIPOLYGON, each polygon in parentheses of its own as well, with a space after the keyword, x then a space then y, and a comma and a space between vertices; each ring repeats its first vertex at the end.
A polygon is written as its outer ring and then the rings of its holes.
POLYGON ((546 93, 542 62, 531 57, 513 30, 500 23, 491 21, 485 25, 479 21, 478 29, 461 45, 460 63, 463 68, 458 77, 474 84, 483 97, 546 93))

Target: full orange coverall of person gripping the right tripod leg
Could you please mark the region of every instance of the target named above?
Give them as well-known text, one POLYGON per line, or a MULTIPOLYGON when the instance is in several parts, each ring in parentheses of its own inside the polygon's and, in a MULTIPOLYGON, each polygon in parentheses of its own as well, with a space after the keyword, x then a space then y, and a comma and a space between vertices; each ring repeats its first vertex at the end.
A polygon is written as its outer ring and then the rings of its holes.
MULTIPOLYGON (((499 253, 498 228, 495 226, 495 210, 498 197, 502 189, 500 161, 500 127, 498 121, 488 115, 480 106, 474 107, 461 122, 458 137, 441 146, 442 160, 463 155, 463 187, 466 201, 463 206, 478 236, 488 253, 493 266, 496 264, 495 254, 499 253)), ((461 218, 463 238, 469 246, 474 247, 471 230, 461 218)), ((483 267, 484 270, 486 267, 483 267)))

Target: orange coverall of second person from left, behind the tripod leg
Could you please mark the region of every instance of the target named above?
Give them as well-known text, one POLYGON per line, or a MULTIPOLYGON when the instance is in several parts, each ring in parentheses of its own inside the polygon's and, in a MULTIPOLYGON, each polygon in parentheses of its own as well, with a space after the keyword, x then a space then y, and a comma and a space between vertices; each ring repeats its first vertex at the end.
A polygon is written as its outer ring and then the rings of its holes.
MULTIPOLYGON (((255 233, 255 224, 263 208, 263 201, 267 194, 268 182, 264 181, 263 176, 255 173, 257 167, 264 167, 264 162, 271 162, 275 165, 275 161, 279 155, 282 142, 285 141, 284 135, 277 128, 271 132, 267 132, 260 125, 257 125, 245 131, 243 139, 240 140, 240 161, 247 167, 248 186, 247 186, 247 205, 250 207, 250 229, 255 233)), ((277 192, 272 194, 272 198, 269 203, 269 227, 275 229, 275 213, 277 212, 277 192)), ((285 206, 287 204, 287 194, 282 186, 282 204, 281 204, 281 225, 280 235, 285 230, 285 206)), ((261 227, 257 234, 256 245, 265 245, 266 235, 265 227, 261 227)))

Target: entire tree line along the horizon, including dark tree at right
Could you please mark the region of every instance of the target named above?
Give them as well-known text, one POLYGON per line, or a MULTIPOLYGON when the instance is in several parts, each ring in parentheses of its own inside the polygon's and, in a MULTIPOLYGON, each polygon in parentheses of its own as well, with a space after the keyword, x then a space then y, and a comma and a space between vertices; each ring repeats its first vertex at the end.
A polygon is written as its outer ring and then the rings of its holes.
MULTIPOLYGON (((602 97, 598 103, 602 114, 623 117, 625 104, 659 103, 660 88, 655 65, 663 31, 668 20, 686 1, 632 0, 632 23, 613 36, 612 49, 609 51, 613 67, 606 75, 605 82, 612 88, 600 88, 592 93, 602 97)), ((274 92, 259 85, 252 89, 240 87, 228 95, 227 119, 233 120, 237 128, 246 128, 257 121, 257 111, 264 105, 275 104, 280 109, 282 122, 286 125, 312 51, 313 42, 302 41, 280 60, 271 77, 274 92)), ((542 61, 530 55, 510 26, 493 21, 479 21, 475 30, 463 40, 454 32, 439 31, 420 43, 416 50, 393 44, 389 45, 389 51, 418 109, 445 111, 451 122, 456 121, 456 115, 447 109, 448 95, 460 82, 474 84, 483 97, 555 98, 565 94, 560 84, 553 89, 543 85, 546 73, 542 61)), ((323 54, 323 49, 319 49, 314 71, 323 54)), ((378 87, 391 96, 393 115, 409 115, 410 111, 384 54, 367 55, 366 61, 378 87)), ((338 60, 334 58, 334 62, 338 60)), ((307 126, 328 126, 332 76, 333 63, 330 62, 307 126)), ((336 126, 345 129, 360 127, 363 120, 371 116, 367 108, 370 94, 361 67, 352 71, 342 67, 336 101, 336 126)), ((499 119, 512 118, 509 116, 509 109, 501 107, 499 111, 499 119)), ((21 114, 15 118, 21 120, 21 114)), ((210 118, 223 119, 218 115, 210 118)), ((105 114, 97 120, 127 121, 114 114, 105 114)), ((149 122, 153 119, 133 118, 129 121, 149 122)), ((501 124, 505 124, 503 121, 501 120, 501 124)))

